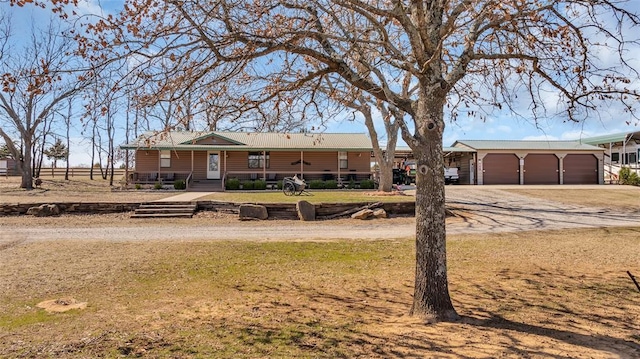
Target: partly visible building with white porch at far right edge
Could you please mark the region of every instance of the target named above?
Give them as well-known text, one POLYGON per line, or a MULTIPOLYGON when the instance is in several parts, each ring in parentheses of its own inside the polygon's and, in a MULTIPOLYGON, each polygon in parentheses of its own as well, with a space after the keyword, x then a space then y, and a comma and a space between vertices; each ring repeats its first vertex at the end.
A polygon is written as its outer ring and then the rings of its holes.
POLYGON ((640 170, 640 131, 589 137, 581 141, 604 149, 605 175, 611 180, 617 179, 623 166, 636 173, 640 170))

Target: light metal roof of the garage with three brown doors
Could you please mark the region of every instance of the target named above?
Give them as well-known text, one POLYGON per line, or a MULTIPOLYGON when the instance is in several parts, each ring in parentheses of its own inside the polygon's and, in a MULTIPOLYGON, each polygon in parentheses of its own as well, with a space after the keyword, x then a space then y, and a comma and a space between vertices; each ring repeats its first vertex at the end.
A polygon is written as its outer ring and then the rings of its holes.
POLYGON ((474 150, 546 150, 546 151, 601 151, 602 149, 580 141, 513 141, 513 140, 460 140, 452 147, 474 150))

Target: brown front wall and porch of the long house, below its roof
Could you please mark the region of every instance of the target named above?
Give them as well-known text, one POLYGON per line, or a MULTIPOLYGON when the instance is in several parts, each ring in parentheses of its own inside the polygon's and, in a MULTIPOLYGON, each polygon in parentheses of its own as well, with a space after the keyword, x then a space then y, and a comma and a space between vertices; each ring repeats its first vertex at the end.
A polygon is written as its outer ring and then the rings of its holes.
POLYGON ((372 179, 370 152, 144 149, 136 151, 136 169, 128 182, 171 185, 184 181, 187 190, 209 183, 205 187, 224 190, 226 181, 234 179, 240 183, 262 181, 266 188, 277 189, 285 177, 294 175, 307 183, 335 181, 334 188, 354 188, 372 179))

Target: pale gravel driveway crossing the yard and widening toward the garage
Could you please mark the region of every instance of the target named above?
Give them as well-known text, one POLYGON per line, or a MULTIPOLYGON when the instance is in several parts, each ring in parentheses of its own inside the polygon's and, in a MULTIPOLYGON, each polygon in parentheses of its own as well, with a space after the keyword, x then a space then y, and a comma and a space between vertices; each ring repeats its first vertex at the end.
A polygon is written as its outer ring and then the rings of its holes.
MULTIPOLYGON (((507 232, 584 227, 640 226, 640 212, 616 212, 522 196, 498 187, 447 187, 447 202, 462 214, 448 222, 447 232, 507 232)), ((206 223, 206 222, 205 222, 206 223)), ((5 227, 5 226, 2 226, 5 227)), ((412 218, 372 221, 265 221, 157 226, 126 220, 96 228, 11 226, 2 242, 22 240, 331 240, 393 239, 415 234, 412 218), (9 234, 10 233, 10 234, 9 234)), ((0 243, 0 246, 2 243, 0 243)))

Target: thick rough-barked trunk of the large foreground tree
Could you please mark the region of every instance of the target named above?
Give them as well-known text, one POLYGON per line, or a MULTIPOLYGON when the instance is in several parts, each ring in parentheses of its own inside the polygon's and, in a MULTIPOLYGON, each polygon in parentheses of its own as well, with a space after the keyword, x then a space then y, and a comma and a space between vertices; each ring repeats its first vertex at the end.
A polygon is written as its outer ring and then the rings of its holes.
MULTIPOLYGON (((427 96, 423 96, 427 97, 427 96)), ((443 106, 433 99, 418 101, 416 123, 424 124, 412 138, 416 159, 416 277, 411 314, 427 321, 459 318, 447 280, 445 193, 442 174, 443 106)))

